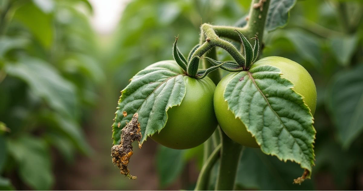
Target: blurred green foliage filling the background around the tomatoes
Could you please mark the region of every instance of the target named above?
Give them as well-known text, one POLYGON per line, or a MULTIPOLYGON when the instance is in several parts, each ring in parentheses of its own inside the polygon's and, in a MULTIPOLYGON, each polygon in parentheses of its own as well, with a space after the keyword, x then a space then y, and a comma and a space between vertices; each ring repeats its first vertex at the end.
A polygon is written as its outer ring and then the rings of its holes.
MULTIPOLYGON (((187 54, 201 23, 234 25, 249 4, 133 0, 105 36, 91 27, 87 0, 0 0, 0 190, 193 189, 203 146, 149 139, 129 165, 138 179, 119 174, 110 157, 117 100, 140 69, 172 59, 174 36, 187 54)), ((286 27, 265 35, 262 57, 297 61, 317 85, 316 166, 293 185, 297 165, 245 148, 237 189, 363 189, 362 16, 359 0, 298 0, 286 27)), ((216 168, 211 188, 215 177, 216 168)))

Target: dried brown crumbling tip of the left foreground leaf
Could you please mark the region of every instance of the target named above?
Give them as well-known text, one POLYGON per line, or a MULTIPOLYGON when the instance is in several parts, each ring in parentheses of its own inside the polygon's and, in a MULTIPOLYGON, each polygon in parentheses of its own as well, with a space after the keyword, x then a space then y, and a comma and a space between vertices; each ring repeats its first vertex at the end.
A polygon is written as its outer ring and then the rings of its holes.
POLYGON ((121 174, 136 179, 136 176, 130 175, 130 170, 127 168, 130 157, 132 156, 132 142, 141 140, 140 123, 138 122, 138 114, 132 116, 131 123, 127 123, 122 129, 121 142, 119 145, 114 145, 111 148, 112 162, 121 170, 121 174))

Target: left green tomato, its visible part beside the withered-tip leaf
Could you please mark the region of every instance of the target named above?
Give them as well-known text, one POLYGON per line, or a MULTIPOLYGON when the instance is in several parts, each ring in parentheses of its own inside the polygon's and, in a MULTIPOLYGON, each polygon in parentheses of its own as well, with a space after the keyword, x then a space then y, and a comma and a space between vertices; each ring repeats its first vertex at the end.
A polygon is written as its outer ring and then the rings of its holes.
POLYGON ((197 80, 184 76, 186 93, 180 106, 167 111, 165 127, 151 136, 163 146, 174 149, 196 147, 215 131, 217 119, 213 109, 216 85, 209 77, 197 80))

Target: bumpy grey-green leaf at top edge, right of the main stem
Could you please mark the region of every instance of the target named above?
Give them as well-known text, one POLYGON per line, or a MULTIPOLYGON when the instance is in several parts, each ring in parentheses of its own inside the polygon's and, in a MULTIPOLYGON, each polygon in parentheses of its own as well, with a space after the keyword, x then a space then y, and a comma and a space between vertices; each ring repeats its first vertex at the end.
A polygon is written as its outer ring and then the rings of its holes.
POLYGON ((271 0, 267 12, 265 29, 270 32, 277 28, 284 28, 290 17, 290 10, 296 0, 271 0))

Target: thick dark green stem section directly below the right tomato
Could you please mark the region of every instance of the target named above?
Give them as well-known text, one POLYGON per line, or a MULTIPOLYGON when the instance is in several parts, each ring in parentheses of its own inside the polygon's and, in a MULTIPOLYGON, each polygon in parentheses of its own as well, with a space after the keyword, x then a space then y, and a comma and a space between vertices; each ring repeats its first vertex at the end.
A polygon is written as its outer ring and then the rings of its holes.
POLYGON ((223 131, 220 131, 220 134, 221 163, 215 190, 233 190, 243 146, 231 140, 223 131))

